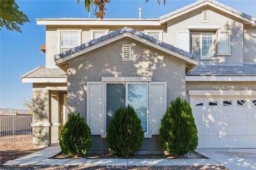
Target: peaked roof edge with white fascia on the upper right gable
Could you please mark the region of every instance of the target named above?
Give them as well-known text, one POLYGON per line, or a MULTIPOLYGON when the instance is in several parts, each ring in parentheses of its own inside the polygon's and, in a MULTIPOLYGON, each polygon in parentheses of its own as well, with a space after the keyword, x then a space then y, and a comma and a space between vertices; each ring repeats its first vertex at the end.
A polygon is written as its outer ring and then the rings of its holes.
POLYGON ((179 8, 178 10, 176 11, 173 11, 169 14, 165 14, 163 16, 160 16, 159 17, 159 20, 161 20, 161 22, 166 22, 170 19, 173 19, 173 18, 176 18, 180 15, 183 15, 189 11, 193 11, 199 7, 202 7, 202 6, 205 6, 205 5, 210 5, 214 8, 218 8, 219 10, 223 11, 223 12, 226 12, 226 13, 229 13, 231 15, 234 15, 246 22, 249 22, 249 23, 252 23, 252 24, 255 24, 255 21, 256 21, 256 18, 253 18, 251 15, 247 15, 243 12, 240 12, 230 6, 227 6, 225 4, 221 4, 219 3, 218 1, 214 1, 214 0, 199 0, 199 1, 196 1, 195 3, 192 3, 192 4, 189 4, 187 6, 184 6, 182 8, 179 8))

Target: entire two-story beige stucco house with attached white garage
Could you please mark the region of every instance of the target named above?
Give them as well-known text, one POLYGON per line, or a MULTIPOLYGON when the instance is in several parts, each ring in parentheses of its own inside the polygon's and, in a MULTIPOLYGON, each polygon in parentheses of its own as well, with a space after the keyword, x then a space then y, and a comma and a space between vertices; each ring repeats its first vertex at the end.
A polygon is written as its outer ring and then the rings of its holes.
POLYGON ((91 128, 91 151, 108 151, 117 107, 132 105, 141 152, 159 152, 158 129, 171 100, 187 99, 198 148, 256 148, 256 18, 202 0, 158 19, 37 19, 46 27, 45 66, 33 83, 33 142, 59 139, 69 113, 91 128), (135 97, 134 97, 135 96, 135 97))

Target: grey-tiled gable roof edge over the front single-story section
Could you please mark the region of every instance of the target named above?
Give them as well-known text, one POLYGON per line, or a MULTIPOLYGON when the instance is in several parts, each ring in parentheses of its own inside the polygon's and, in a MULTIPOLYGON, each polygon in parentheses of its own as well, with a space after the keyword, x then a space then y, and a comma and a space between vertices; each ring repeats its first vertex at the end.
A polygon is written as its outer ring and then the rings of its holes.
POLYGON ((81 46, 77 46, 75 48, 71 48, 70 50, 67 50, 66 52, 60 53, 58 55, 54 55, 53 57, 54 57, 55 62, 57 64, 59 64, 59 63, 65 62, 67 60, 70 60, 71 58, 74 58, 76 56, 87 53, 90 50, 97 49, 103 45, 106 45, 106 44, 112 43, 113 41, 122 39, 124 37, 130 37, 130 38, 138 40, 141 43, 144 43, 146 45, 158 48, 159 50, 162 50, 163 52, 166 52, 173 56, 181 58, 191 64, 197 65, 198 61, 200 60, 200 56, 198 56, 198 55, 185 52, 180 48, 174 47, 170 44, 163 43, 163 41, 155 39, 151 36, 146 35, 145 33, 142 33, 140 31, 134 30, 129 27, 118 29, 114 32, 109 33, 108 35, 102 36, 97 39, 93 39, 93 40, 89 41, 88 43, 82 44, 81 46), (93 47, 93 48, 90 48, 90 47, 93 47))

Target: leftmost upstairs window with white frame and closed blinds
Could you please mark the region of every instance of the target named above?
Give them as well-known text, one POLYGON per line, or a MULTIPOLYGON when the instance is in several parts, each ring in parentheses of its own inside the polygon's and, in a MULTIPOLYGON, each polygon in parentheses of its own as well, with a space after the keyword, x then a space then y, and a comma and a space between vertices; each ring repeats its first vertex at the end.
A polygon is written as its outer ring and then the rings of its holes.
POLYGON ((58 31, 58 53, 65 52, 70 48, 81 45, 82 29, 57 29, 58 31))

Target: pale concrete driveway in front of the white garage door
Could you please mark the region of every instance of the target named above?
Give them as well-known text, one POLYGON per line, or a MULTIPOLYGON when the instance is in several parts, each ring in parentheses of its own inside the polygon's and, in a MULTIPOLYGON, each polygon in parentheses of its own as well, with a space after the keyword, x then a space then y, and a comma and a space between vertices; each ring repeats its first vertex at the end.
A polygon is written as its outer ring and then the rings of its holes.
POLYGON ((219 164, 233 169, 256 169, 256 149, 196 149, 219 164))

